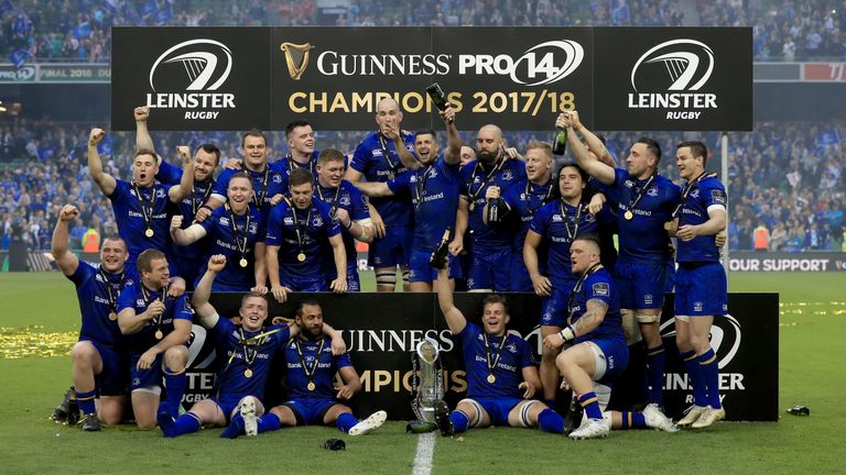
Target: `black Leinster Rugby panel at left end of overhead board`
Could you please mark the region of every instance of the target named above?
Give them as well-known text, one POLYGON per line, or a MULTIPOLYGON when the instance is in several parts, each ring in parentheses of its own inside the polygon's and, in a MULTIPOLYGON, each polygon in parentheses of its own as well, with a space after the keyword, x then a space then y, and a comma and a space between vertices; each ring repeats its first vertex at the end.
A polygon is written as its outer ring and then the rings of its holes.
POLYGON ((113 130, 153 109, 153 130, 268 129, 268 29, 120 27, 112 42, 113 130))

